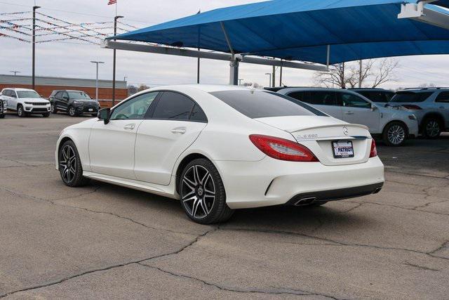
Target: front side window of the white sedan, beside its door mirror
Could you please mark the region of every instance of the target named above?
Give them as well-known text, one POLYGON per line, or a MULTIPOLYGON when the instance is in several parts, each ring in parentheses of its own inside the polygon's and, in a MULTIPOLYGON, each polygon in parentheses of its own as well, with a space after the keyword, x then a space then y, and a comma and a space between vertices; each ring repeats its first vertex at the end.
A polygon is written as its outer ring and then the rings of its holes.
POLYGON ((143 119, 149 105, 152 104, 158 92, 144 93, 119 105, 111 114, 111 119, 143 119))

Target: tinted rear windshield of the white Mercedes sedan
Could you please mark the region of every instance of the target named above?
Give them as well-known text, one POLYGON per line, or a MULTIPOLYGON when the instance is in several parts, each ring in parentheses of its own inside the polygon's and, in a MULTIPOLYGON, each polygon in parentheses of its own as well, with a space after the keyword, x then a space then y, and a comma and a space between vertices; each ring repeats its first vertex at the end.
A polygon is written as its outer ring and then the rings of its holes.
POLYGON ((269 91, 216 91, 210 94, 251 119, 314 115, 328 117, 310 105, 269 91))

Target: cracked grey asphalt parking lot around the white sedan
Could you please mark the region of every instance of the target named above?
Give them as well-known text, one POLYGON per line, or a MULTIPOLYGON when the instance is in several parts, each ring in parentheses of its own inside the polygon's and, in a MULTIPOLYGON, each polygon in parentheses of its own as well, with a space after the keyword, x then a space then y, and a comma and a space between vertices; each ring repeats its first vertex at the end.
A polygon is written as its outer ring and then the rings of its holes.
POLYGON ((163 197, 63 185, 55 141, 82 119, 0 119, 0 298, 448 297, 448 133, 380 144, 377 195, 201 226, 163 197))

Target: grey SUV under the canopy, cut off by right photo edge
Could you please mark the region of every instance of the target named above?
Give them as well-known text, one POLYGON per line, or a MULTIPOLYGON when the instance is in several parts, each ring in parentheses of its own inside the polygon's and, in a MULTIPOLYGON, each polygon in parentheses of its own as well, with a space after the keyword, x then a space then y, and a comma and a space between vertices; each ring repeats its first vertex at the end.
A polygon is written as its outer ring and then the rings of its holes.
POLYGON ((413 112, 426 138, 438 138, 449 131, 449 88, 406 89, 396 92, 390 107, 413 112))

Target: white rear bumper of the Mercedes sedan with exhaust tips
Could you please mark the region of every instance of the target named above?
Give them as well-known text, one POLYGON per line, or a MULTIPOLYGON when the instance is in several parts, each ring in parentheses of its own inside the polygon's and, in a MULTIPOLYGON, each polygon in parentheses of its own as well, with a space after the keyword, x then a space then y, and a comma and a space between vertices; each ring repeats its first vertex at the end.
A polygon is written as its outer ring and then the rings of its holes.
POLYGON ((227 204, 232 209, 288 204, 298 195, 319 195, 323 201, 358 197, 374 193, 384 183, 384 165, 379 157, 339 166, 284 162, 271 157, 260 162, 214 164, 222 176, 227 204), (337 191, 340 195, 335 195, 337 191))

